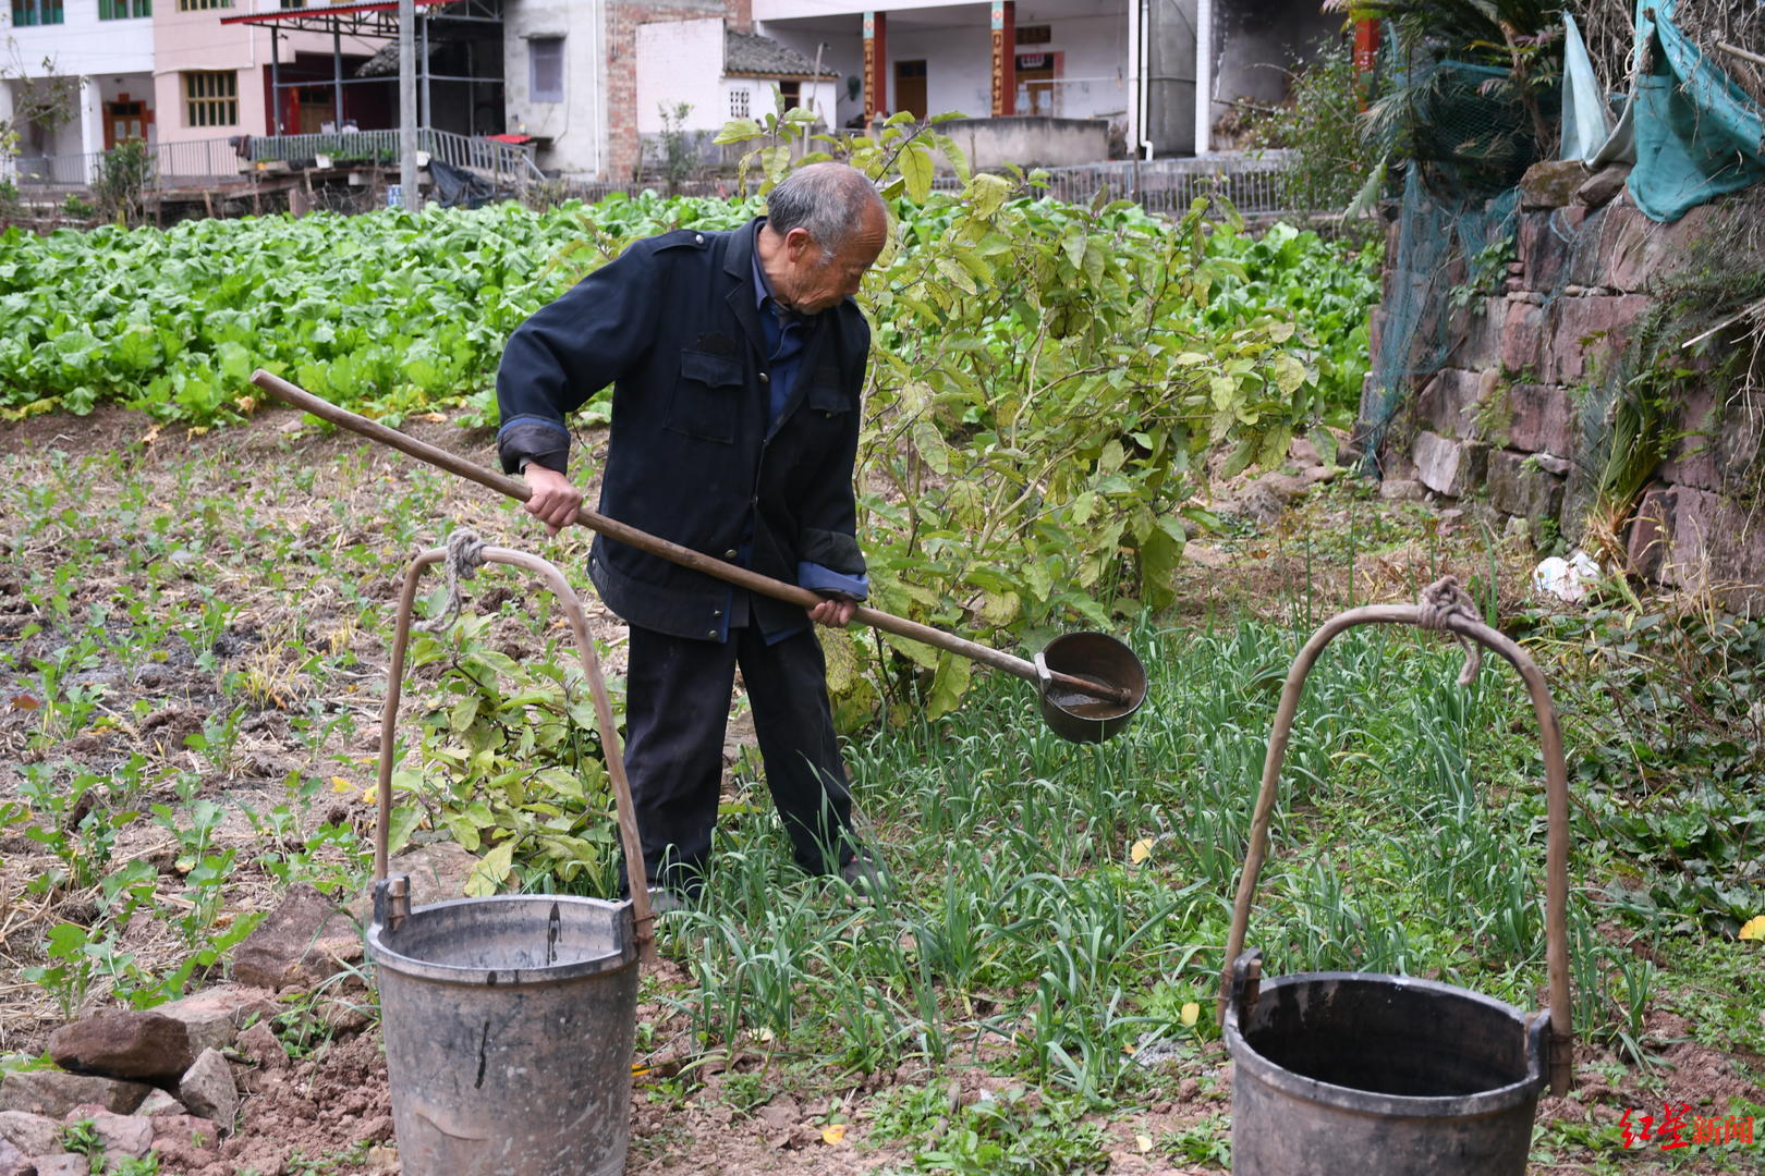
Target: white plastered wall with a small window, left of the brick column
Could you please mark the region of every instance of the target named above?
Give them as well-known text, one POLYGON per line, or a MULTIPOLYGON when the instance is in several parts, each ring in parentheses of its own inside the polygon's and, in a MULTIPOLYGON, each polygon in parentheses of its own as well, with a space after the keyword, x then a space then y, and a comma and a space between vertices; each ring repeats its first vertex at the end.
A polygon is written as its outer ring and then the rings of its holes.
MULTIPOLYGON (((605 176, 609 63, 600 0, 519 0, 503 9, 503 95, 508 129, 549 139, 538 166, 565 176, 605 176), (563 39, 563 100, 537 102, 530 41, 563 39)), ((630 48, 627 49, 630 51, 630 48)))

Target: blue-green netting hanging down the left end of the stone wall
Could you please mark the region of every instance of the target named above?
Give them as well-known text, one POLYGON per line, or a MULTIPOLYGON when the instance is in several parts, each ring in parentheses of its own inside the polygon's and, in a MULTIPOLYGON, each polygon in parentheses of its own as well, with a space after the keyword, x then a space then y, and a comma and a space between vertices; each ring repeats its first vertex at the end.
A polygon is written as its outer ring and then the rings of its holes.
POLYGON ((1382 303, 1386 317, 1361 398, 1368 473, 1378 473, 1378 446, 1398 407, 1451 356, 1451 287, 1470 280, 1467 270, 1477 254, 1514 234, 1518 213, 1516 187, 1486 199, 1454 197, 1430 192, 1417 167, 1405 175, 1398 249, 1382 303))

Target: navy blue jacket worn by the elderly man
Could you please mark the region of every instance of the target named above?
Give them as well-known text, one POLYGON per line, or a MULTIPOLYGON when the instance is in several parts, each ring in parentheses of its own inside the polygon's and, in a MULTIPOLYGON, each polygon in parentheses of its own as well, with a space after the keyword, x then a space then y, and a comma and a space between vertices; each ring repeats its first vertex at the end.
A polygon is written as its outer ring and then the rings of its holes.
MULTIPOLYGON (((510 335, 496 372, 503 469, 567 471, 565 418, 612 384, 600 511, 639 531, 796 582, 814 562, 863 575, 852 502, 870 326, 852 300, 810 319, 803 363, 768 430, 766 351, 754 305, 759 220, 637 242, 510 335)), ((595 538, 590 578, 630 624, 725 640, 732 591, 595 538)), ((768 635, 803 608, 752 598, 768 635)))

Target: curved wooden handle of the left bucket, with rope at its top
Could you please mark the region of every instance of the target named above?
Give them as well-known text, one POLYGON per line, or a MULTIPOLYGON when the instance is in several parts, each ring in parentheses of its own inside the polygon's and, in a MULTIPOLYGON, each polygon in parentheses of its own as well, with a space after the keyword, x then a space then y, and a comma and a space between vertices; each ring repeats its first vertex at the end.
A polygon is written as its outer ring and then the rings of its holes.
MULTIPOLYGON (((404 569, 404 589, 399 592, 399 617, 392 633, 392 665, 387 666, 387 705, 379 712, 379 781, 376 800, 379 820, 374 825, 374 882, 387 876, 387 850, 392 818, 392 741, 399 726, 399 695, 404 686, 404 649, 411 640, 411 612, 417 605, 417 580, 422 573, 448 557, 448 548, 432 547, 418 552, 404 569)), ((632 786, 625 779, 625 753, 620 746, 620 728, 612 721, 612 702, 607 698, 607 682, 600 675, 600 659, 595 656, 595 642, 588 636, 588 619, 582 615, 582 601, 577 599, 570 582, 563 578, 558 566, 507 547, 480 547, 478 557, 487 564, 510 564, 524 568, 545 580, 558 603, 563 605, 570 621, 570 636, 575 638, 575 652, 582 659, 582 677, 588 679, 588 693, 595 700, 595 725, 600 728, 600 748, 607 756, 607 778, 612 781, 612 797, 618 806, 620 841, 625 848, 627 875, 635 866, 642 869, 644 852, 637 841, 637 809, 632 804, 632 786)), ((655 913, 650 910, 650 890, 641 883, 632 885, 632 926, 637 936, 637 957, 653 964, 655 913)))

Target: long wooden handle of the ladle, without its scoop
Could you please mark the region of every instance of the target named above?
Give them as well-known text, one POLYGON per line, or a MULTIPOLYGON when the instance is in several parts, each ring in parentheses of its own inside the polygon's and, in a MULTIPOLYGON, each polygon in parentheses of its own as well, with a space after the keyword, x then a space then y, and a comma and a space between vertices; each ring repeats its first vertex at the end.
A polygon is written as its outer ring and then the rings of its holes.
MULTIPOLYGON (((531 497, 531 490, 526 481, 519 478, 510 478, 496 471, 485 469, 475 462, 468 462, 462 457, 448 453, 447 450, 436 448, 417 437, 399 432, 397 428, 388 428, 379 421, 371 421, 365 416, 358 416, 349 409, 341 409, 330 400, 314 397, 311 391, 289 384, 281 376, 272 376, 263 368, 252 372, 251 383, 258 384, 270 395, 286 400, 297 409, 305 409, 319 420, 330 421, 332 425, 341 425, 349 432, 360 434, 371 441, 388 444, 401 453, 408 453, 431 465, 439 465, 450 474, 459 474, 469 481, 477 481, 480 487, 496 490, 498 494, 507 494, 512 499, 526 502, 531 497)), ((586 506, 577 510, 575 522, 588 527, 590 531, 598 531, 609 540, 618 540, 620 543, 628 543, 641 552, 650 552, 669 562, 680 564, 681 568, 692 568, 694 571, 702 571, 708 577, 717 577, 718 580, 727 580, 752 592, 761 592, 762 596, 771 596, 775 599, 789 601, 792 605, 803 605, 805 608, 814 608, 824 596, 812 592, 805 587, 794 584, 785 584, 784 580, 773 580, 757 571, 748 571, 747 568, 738 568, 736 564, 724 562, 706 555, 704 552, 695 552, 690 547, 681 547, 680 543, 671 543, 667 540, 657 538, 637 527, 628 527, 618 518, 607 518, 600 511, 593 511, 586 506)), ((854 621, 861 621, 872 628, 882 629, 884 633, 895 633, 897 636, 905 636, 914 642, 923 642, 927 645, 935 645, 937 649, 948 649, 953 654, 980 661, 981 665, 990 665, 995 670, 1004 670, 1006 674, 1015 674, 1020 679, 1038 682, 1036 666, 1024 658, 1015 658, 1008 652, 1001 652, 980 642, 971 642, 967 638, 957 636, 953 633, 944 633, 943 629, 934 629, 928 624, 920 624, 918 621, 907 621, 905 617, 897 617, 890 612, 881 612, 877 608, 860 607, 852 614, 854 621)), ((1114 686, 1105 686, 1101 682, 1093 682, 1084 677, 1073 677, 1071 674, 1061 674, 1057 670, 1048 672, 1048 679, 1061 689, 1070 689, 1073 693, 1084 695, 1085 698, 1103 698, 1107 702, 1128 702, 1126 691, 1114 686)))

